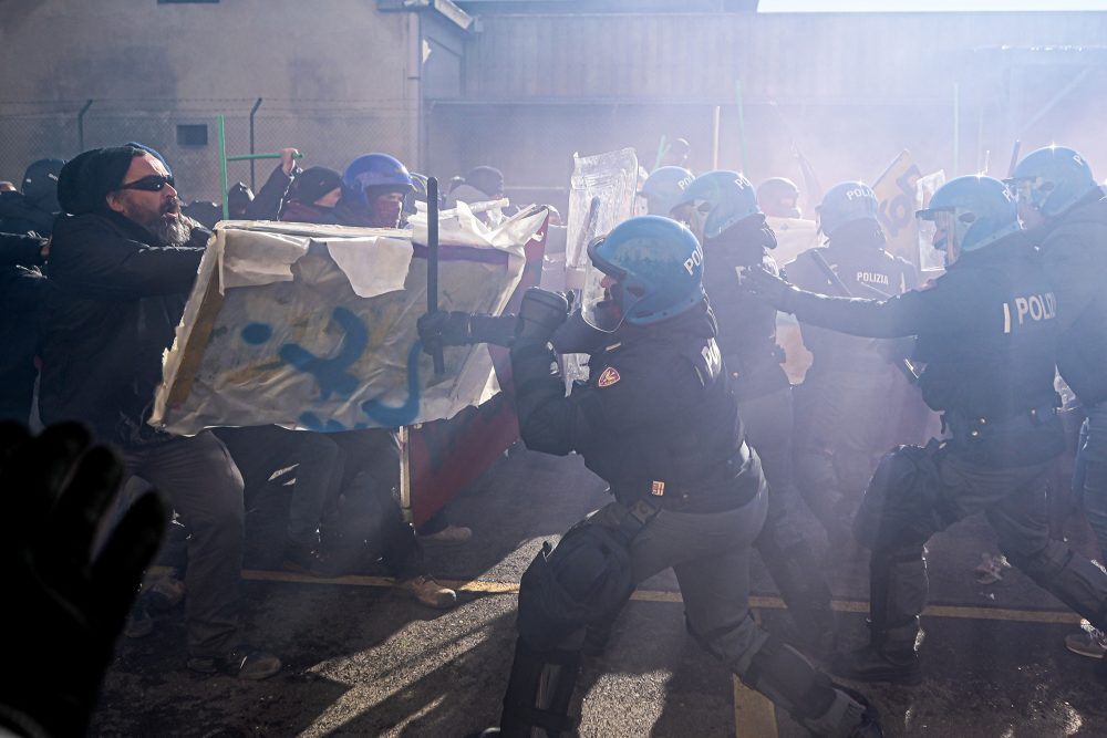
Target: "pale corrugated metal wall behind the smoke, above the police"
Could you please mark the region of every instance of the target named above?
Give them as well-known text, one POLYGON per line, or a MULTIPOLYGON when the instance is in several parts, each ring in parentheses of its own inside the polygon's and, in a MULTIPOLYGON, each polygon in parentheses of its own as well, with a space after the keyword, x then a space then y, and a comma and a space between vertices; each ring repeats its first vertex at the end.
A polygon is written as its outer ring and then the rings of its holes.
POLYGON ((824 185, 871 180, 903 148, 924 171, 958 174, 992 152, 996 174, 1016 135, 1024 152, 1068 137, 1107 173, 1103 54, 1020 50, 1107 43, 1107 13, 505 14, 478 29, 463 100, 428 108, 441 176, 487 163, 509 186, 559 187, 573 150, 634 146, 649 168, 662 135, 689 138, 693 167, 705 170, 715 105, 718 166, 755 180, 797 177, 794 147, 824 185), (1084 65, 1093 69, 1072 94, 1021 133, 1084 65))

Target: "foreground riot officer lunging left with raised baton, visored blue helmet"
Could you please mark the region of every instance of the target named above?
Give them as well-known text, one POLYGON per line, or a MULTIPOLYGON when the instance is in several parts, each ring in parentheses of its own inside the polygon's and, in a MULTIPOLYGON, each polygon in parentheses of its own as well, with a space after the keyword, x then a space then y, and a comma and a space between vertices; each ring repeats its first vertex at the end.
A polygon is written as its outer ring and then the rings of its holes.
MULTIPOLYGON (((566 396, 551 343, 568 304, 531 289, 507 341, 527 447, 580 454, 614 500, 549 544, 523 575, 505 736, 571 729, 568 716, 588 625, 607 622, 634 586, 673 568, 687 626, 739 678, 815 735, 880 736, 866 699, 835 686, 749 613, 748 567, 767 491, 745 443, 702 287, 704 254, 680 224, 631 218, 588 247, 604 299, 582 310, 606 336, 589 381, 566 396)), ((424 345, 479 342, 478 316, 432 313, 424 345)), ((492 734, 489 734, 492 735, 492 734)))

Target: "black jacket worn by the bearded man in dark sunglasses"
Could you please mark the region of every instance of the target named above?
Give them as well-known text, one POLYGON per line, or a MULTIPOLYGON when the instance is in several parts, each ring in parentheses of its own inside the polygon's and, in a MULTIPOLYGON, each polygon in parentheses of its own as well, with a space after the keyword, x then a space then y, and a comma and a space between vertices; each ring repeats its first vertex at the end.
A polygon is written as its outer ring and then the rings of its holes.
POLYGON ((146 425, 209 231, 184 247, 106 208, 58 219, 42 320, 40 412, 83 420, 123 447, 165 440, 146 425))

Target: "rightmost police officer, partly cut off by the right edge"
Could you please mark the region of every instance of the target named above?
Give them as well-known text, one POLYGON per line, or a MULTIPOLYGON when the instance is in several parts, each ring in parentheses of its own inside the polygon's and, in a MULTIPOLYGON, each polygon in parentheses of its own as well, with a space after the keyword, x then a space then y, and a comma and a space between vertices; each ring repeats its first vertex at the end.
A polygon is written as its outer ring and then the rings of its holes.
MULTIPOLYGON (((1087 416, 1074 491, 1107 557, 1107 199, 1087 160, 1064 146, 1028 154, 1008 186, 1057 295, 1057 370, 1087 416)), ((1069 635, 1065 643, 1084 656, 1101 659, 1107 653, 1107 637, 1094 630, 1069 635)), ((1097 671, 1107 678, 1107 665, 1097 671)))

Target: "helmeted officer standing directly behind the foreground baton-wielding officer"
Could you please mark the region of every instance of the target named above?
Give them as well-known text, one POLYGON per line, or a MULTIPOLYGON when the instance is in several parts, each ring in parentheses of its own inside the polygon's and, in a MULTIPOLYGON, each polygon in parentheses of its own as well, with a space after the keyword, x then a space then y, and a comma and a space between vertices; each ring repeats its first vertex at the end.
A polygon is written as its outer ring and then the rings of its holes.
POLYGON ((793 479, 792 384, 776 342, 776 310, 739 289, 736 270, 774 273, 776 236, 766 225, 749 180, 720 169, 701 175, 685 197, 706 209, 703 284, 718 321, 718 345, 731 374, 746 439, 769 485, 768 517, 754 547, 788 605, 793 637, 820 655, 834 638, 830 586, 808 543, 803 503, 793 479))

